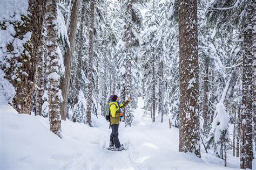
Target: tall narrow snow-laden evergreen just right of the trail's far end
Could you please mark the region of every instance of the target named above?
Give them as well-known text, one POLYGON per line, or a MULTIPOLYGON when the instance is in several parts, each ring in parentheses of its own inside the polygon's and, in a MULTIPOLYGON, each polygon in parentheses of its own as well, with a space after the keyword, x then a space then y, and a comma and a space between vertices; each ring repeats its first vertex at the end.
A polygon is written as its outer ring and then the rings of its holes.
MULTIPOLYGON (((145 107, 151 111, 152 122, 156 119, 156 86, 157 86, 157 76, 156 76, 156 62, 157 58, 160 57, 160 51, 158 43, 158 24, 159 24, 159 14, 158 6, 154 2, 149 4, 149 10, 145 13, 145 26, 146 29, 143 32, 143 79, 145 79, 145 107)), ((160 70, 161 72, 161 70, 160 70)), ((161 77, 162 78, 162 77, 161 77)), ((161 92, 160 92, 161 93, 161 92)))

